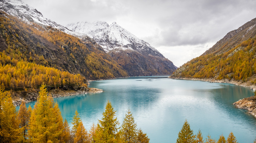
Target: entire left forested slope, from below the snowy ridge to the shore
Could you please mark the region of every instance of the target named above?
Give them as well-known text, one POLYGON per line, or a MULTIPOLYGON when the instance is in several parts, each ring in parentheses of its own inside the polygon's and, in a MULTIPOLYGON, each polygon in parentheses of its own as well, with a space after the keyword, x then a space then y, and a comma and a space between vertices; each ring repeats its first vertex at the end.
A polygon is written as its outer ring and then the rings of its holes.
POLYGON ((50 89, 76 90, 87 86, 86 79, 124 76, 126 71, 94 40, 27 24, 0 11, 0 86, 14 100, 35 100, 28 93, 43 83, 50 89))

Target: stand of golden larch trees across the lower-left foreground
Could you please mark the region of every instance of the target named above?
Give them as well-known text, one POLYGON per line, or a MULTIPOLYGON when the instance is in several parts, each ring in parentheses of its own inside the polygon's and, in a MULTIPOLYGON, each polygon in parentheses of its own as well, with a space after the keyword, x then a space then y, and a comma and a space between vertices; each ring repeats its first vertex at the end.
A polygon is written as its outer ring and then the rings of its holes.
POLYGON ((40 87, 39 98, 32 109, 23 102, 18 113, 10 92, 0 88, 0 142, 20 143, 148 143, 148 136, 137 128, 128 109, 121 126, 116 111, 108 101, 102 119, 85 129, 79 114, 70 126, 61 116, 58 104, 47 96, 46 85, 40 87))

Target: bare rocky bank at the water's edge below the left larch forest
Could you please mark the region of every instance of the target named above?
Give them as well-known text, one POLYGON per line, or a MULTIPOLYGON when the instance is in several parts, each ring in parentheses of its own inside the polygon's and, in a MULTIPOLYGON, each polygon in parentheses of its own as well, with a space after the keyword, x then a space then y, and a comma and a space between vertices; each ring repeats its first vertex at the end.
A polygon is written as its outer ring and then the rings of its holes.
MULTIPOLYGON (((103 90, 98 88, 89 88, 89 87, 80 87, 80 89, 76 91, 53 89, 48 91, 48 96, 52 96, 53 98, 58 98, 58 97, 74 96, 74 95, 87 94, 87 93, 100 93, 100 92, 103 92, 103 90)), ((13 99, 12 103, 14 104, 14 106, 19 106, 22 103, 22 101, 25 101, 25 103, 36 101, 38 95, 39 95, 38 91, 28 92, 23 98, 13 99)))

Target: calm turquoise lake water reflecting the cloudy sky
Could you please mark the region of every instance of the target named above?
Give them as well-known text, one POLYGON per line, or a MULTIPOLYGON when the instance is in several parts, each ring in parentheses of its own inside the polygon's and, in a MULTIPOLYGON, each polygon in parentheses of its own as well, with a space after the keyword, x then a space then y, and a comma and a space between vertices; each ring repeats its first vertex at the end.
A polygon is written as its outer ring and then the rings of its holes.
POLYGON ((252 143, 256 136, 256 119, 232 105, 254 94, 247 87, 167 77, 93 81, 89 87, 104 92, 54 99, 70 125, 77 110, 84 126, 90 129, 102 118, 109 100, 120 124, 130 108, 137 126, 151 143, 175 143, 185 119, 194 134, 200 129, 204 138, 209 134, 218 140, 223 134, 227 139, 232 131, 238 142, 252 143))

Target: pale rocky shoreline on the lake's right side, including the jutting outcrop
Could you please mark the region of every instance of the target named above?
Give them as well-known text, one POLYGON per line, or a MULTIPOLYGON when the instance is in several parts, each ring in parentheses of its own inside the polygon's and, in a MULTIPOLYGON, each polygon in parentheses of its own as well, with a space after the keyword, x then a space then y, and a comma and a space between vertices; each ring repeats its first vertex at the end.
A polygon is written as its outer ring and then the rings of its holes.
MULTIPOLYGON (((199 80, 199 81, 207 81, 213 83, 230 83, 238 86, 250 87, 252 90, 256 90, 255 84, 250 82, 242 82, 236 80, 215 80, 215 79, 200 79, 200 78, 172 78, 172 79, 181 79, 181 80, 199 80)), ((244 99, 240 99, 239 101, 233 103, 236 108, 245 109, 249 114, 253 115, 256 118, 256 96, 247 97, 244 99)))

